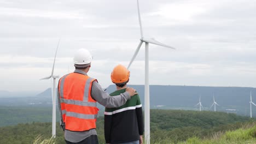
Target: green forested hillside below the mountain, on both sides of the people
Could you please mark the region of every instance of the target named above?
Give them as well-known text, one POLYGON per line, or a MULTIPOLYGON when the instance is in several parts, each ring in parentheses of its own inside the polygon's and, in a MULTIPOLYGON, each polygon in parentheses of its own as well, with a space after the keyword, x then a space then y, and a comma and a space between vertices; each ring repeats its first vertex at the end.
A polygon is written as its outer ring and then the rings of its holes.
MULTIPOLYGON (((150 110, 151 142, 177 143, 189 137, 207 137, 217 131, 235 130, 253 119, 223 112, 182 110, 150 110)), ((97 118, 97 133, 104 143, 103 117, 97 118)), ((57 123, 56 125, 59 125, 57 123)), ((0 140, 4 143, 31 143, 38 135, 51 136, 51 123, 18 124, 0 127, 0 140)), ((63 131, 57 126, 56 143, 63 143, 63 131)))

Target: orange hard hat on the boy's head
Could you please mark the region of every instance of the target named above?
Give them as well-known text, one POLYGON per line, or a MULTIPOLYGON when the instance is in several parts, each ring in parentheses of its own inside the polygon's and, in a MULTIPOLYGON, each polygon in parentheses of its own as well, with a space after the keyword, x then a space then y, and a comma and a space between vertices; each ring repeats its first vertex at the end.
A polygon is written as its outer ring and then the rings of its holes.
POLYGON ((117 65, 112 73, 111 73, 111 80, 113 83, 125 83, 129 80, 130 77, 130 71, 127 70, 124 65, 117 65))

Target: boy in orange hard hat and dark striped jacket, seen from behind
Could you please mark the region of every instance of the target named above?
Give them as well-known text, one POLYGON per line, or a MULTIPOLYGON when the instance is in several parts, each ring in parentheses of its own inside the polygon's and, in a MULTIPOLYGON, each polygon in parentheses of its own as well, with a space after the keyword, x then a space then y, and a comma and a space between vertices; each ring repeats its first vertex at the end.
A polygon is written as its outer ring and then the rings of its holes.
MULTIPOLYGON (((117 91, 111 93, 113 97, 127 89, 130 71, 123 65, 117 65, 112 71, 111 80, 117 86, 117 91)), ((127 100, 123 106, 117 108, 106 107, 104 112, 104 133, 106 143, 142 144, 143 114, 139 95, 127 100)))

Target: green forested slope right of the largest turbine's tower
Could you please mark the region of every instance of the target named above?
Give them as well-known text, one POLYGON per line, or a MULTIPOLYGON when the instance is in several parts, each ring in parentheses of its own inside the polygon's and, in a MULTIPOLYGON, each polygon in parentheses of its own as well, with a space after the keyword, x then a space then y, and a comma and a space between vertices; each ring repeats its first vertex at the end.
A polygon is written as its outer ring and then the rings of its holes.
POLYGON ((189 137, 208 137, 218 131, 235 130, 249 121, 233 113, 183 110, 150 110, 150 142, 174 143, 189 137), (168 137, 168 138, 167 138, 168 137))

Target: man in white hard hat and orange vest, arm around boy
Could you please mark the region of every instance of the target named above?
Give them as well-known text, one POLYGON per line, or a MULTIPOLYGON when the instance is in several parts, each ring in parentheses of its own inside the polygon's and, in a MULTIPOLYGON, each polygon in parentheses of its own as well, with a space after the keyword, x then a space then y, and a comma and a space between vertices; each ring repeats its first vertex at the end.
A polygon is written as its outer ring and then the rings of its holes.
POLYGON ((135 89, 128 88, 117 97, 110 97, 96 79, 87 75, 91 61, 91 53, 79 49, 74 56, 74 73, 59 80, 58 104, 66 143, 98 143, 96 101, 106 107, 119 107, 137 94, 135 89))

